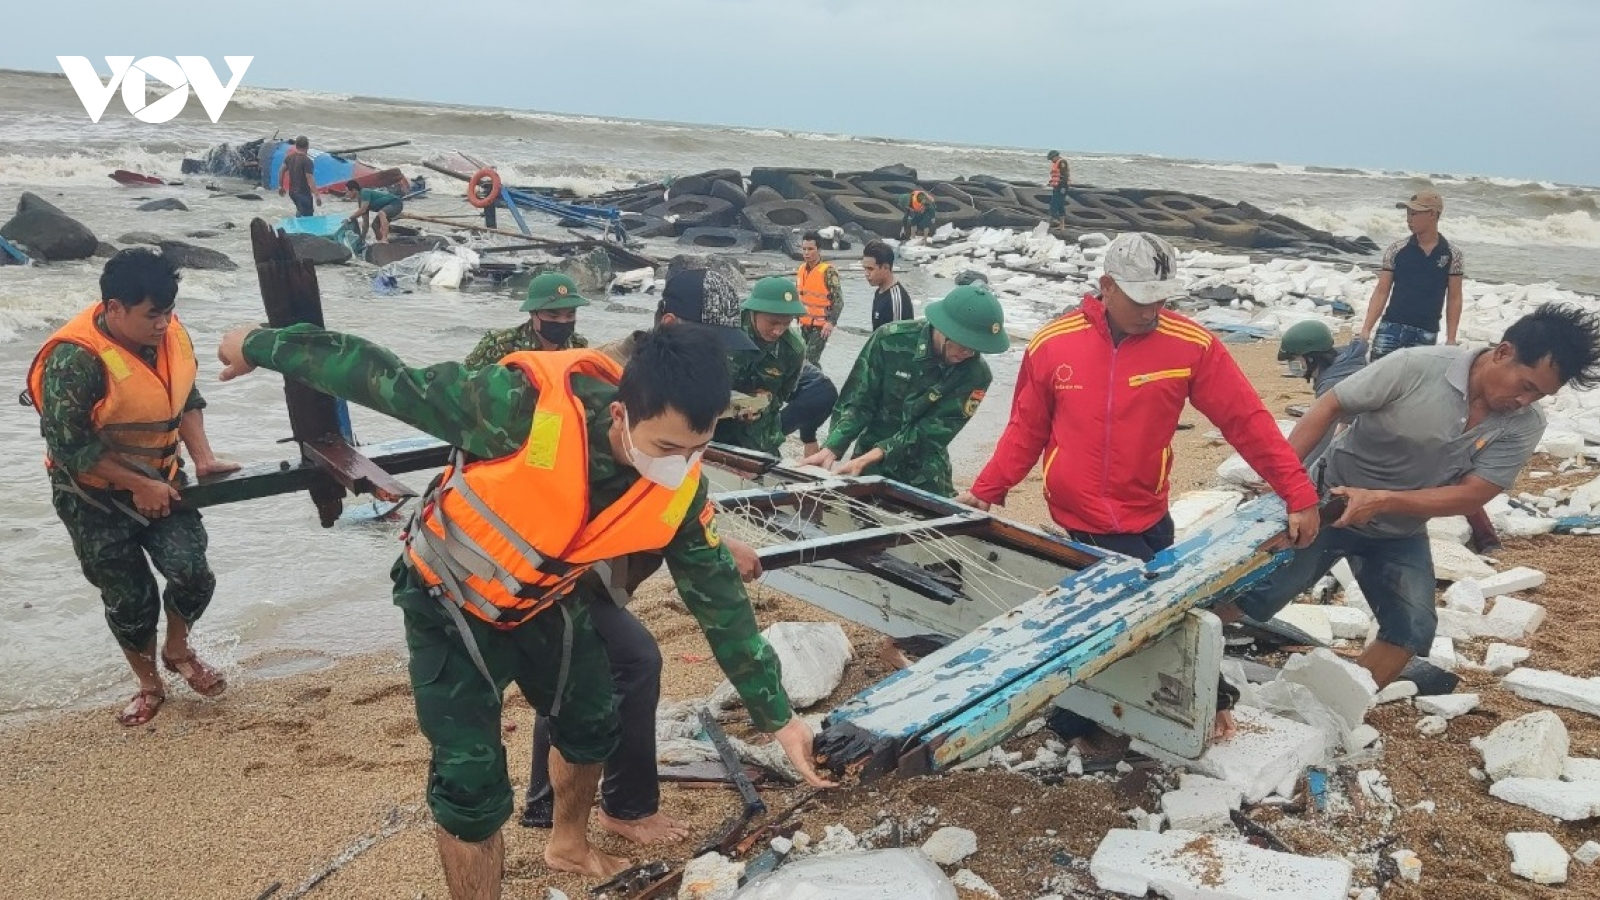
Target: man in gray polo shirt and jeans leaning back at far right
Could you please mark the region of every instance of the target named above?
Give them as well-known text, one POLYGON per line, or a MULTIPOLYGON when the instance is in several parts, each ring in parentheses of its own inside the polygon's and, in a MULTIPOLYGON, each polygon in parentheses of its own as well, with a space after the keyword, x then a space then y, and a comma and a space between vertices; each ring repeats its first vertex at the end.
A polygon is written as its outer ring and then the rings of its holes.
POLYGON ((1547 303, 1486 351, 1414 348, 1373 362, 1312 404, 1290 434, 1318 490, 1344 503, 1333 527, 1216 613, 1266 621, 1349 559, 1378 618, 1360 665, 1379 687, 1434 644, 1434 560, 1427 520, 1464 516, 1510 488, 1544 434, 1533 404, 1565 384, 1600 384, 1600 314, 1547 303))

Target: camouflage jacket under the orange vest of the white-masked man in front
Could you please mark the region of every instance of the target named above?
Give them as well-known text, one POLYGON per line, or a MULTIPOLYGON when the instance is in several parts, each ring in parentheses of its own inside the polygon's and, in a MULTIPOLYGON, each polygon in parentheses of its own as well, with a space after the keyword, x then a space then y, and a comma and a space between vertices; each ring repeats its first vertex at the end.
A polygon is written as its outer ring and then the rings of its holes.
MULTIPOLYGON (((245 340, 245 359, 394 416, 485 460, 522 448, 539 399, 526 376, 512 368, 469 368, 458 362, 413 368, 371 341, 314 325, 251 331, 245 340)), ((590 508, 600 511, 621 498, 638 480, 638 472, 611 453, 608 408, 616 389, 584 376, 573 378, 573 388, 589 412, 590 508)), ((757 631, 755 613, 733 556, 717 533, 706 492, 702 477, 690 504, 701 512, 683 520, 662 554, 678 594, 706 633, 750 719, 762 730, 776 730, 792 716, 778 655, 757 631)))

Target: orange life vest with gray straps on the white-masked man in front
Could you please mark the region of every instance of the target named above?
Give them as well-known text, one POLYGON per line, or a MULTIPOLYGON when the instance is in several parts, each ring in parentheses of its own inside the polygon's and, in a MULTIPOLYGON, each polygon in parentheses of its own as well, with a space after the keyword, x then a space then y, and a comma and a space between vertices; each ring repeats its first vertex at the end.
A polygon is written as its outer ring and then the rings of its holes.
POLYGON ((458 450, 406 530, 406 556, 430 588, 496 628, 560 601, 597 564, 672 541, 699 490, 699 464, 677 490, 638 479, 589 516, 589 416, 573 375, 616 384, 622 367, 589 349, 501 359, 539 391, 522 448, 466 461, 458 450))

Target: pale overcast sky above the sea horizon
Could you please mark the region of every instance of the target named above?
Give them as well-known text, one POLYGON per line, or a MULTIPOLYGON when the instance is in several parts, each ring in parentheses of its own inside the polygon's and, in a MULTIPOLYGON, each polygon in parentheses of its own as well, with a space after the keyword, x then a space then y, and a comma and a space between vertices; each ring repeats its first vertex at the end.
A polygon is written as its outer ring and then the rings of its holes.
POLYGON ((256 88, 1600 184, 1597 0, 453 6, 16 3, 0 67, 248 54, 256 88))

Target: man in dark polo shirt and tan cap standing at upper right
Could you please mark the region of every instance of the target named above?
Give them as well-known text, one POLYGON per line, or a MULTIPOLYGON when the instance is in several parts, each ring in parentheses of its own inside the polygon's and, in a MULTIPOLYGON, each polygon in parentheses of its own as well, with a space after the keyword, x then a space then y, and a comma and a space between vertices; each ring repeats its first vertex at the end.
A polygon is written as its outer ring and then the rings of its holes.
POLYGON ((1384 251, 1384 269, 1366 303, 1360 340, 1373 344, 1374 362, 1398 349, 1438 343, 1440 312, 1445 315, 1446 344, 1456 343, 1456 325, 1461 323, 1461 248, 1438 234, 1445 199, 1422 191, 1395 203, 1395 208, 1405 210, 1411 237, 1390 243, 1384 251))

